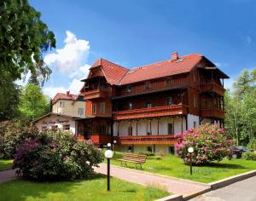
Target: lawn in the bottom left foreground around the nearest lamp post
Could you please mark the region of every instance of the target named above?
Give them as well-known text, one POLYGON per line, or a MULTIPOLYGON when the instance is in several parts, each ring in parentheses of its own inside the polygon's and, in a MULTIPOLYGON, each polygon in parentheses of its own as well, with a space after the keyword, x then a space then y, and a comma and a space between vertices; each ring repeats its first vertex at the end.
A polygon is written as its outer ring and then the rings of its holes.
POLYGON ((0 200, 154 200, 170 193, 154 187, 143 187, 115 178, 96 175, 86 181, 32 182, 15 180, 0 185, 0 200))

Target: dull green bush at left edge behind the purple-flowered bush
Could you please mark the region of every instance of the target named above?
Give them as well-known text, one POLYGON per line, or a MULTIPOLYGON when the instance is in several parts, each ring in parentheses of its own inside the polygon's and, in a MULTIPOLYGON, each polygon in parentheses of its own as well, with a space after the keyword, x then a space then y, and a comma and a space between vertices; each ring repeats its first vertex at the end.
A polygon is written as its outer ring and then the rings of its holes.
POLYGON ((23 122, 0 123, 0 155, 14 158, 17 146, 25 139, 38 135, 38 129, 23 122))

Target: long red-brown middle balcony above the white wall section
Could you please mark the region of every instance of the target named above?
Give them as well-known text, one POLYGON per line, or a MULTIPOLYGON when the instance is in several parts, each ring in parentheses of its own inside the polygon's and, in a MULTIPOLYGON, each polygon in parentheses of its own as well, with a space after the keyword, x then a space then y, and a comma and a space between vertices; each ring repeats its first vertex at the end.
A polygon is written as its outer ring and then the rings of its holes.
POLYGON ((188 106, 182 104, 172 106, 154 106, 151 108, 113 112, 113 119, 122 120, 131 118, 156 118, 172 115, 183 115, 187 113, 188 106))

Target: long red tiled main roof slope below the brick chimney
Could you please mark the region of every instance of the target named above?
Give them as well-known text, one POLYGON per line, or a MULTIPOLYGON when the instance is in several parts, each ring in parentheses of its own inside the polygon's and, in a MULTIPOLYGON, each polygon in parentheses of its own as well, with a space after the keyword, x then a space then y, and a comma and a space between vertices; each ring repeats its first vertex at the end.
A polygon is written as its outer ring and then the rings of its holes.
POLYGON ((162 78, 184 72, 190 72, 202 59, 203 55, 185 55, 177 60, 163 60, 154 64, 131 69, 119 82, 120 85, 148 79, 162 78))

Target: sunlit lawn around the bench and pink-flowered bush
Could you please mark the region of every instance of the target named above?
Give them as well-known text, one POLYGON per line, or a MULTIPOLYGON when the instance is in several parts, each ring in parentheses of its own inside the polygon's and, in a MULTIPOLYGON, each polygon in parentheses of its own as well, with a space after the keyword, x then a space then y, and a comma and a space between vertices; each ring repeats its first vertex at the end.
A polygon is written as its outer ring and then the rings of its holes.
MULTIPOLYGON (((116 152, 114 158, 121 157, 122 153, 116 152)), ((111 164, 120 165, 119 161, 114 158, 111 160, 111 164)), ((135 164, 128 164, 128 167, 134 169, 135 164)), ((173 155, 166 155, 164 158, 159 160, 155 157, 148 157, 146 164, 143 164, 144 171, 191 181, 200 181, 203 183, 218 181, 253 169, 256 169, 256 161, 249 161, 245 159, 224 159, 219 163, 216 162, 207 166, 193 167, 193 175, 190 175, 189 165, 183 164, 183 160, 181 158, 177 158, 173 155)))

